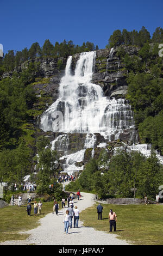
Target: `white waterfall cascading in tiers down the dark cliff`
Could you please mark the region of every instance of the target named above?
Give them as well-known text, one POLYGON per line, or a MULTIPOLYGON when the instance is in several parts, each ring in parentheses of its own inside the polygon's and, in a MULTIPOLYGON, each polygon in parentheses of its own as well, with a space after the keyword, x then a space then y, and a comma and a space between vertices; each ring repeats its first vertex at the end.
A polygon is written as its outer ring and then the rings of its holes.
MULTIPOLYGON (((112 57, 114 49, 110 51, 112 57)), ((87 148, 93 148, 96 136, 100 133, 105 141, 121 138, 122 133, 129 133, 129 140, 136 143, 134 117, 126 99, 109 99, 97 84, 91 83, 96 52, 81 53, 74 70, 71 72, 72 56, 68 57, 65 76, 62 77, 59 97, 41 116, 43 131, 63 132, 52 142, 52 149, 64 150, 68 147, 67 133, 87 133, 84 149, 65 155, 64 170, 72 173, 77 167, 75 162, 82 162, 87 148)), ((104 147, 104 144, 99 145, 104 147)), ((92 150, 92 157, 94 150, 92 150)))

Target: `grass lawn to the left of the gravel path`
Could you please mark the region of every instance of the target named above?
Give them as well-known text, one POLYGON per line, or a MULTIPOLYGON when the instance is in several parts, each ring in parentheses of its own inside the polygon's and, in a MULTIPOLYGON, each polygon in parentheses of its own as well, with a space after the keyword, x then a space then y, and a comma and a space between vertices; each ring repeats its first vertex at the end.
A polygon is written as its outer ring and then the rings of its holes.
MULTIPOLYGON (((40 218, 45 217, 46 214, 53 210, 53 202, 42 202, 42 205, 41 215, 37 216, 34 215, 33 203, 31 216, 27 215, 26 205, 22 205, 19 208, 17 205, 10 205, 0 209, 0 242, 27 239, 29 235, 19 234, 19 232, 36 228, 40 224, 40 218)), ((59 207, 61 208, 61 205, 59 207)))

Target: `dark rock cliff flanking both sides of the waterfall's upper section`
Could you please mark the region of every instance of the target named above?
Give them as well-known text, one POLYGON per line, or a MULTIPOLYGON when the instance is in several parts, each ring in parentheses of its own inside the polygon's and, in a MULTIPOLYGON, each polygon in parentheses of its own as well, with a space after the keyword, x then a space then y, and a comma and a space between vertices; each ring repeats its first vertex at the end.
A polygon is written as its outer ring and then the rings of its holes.
MULTIPOLYGON (((122 46, 123 50, 130 56, 137 55, 139 47, 134 46, 122 46)), ((102 49, 96 51, 96 60, 94 63, 94 72, 92 75, 92 83, 98 84, 102 87, 104 95, 109 97, 125 97, 127 94, 127 82, 128 71, 125 69, 124 64, 120 58, 117 57, 118 47, 116 47, 110 57, 110 49, 102 49)), ((74 74, 77 61, 80 53, 76 53, 72 56, 71 71, 74 74)), ((57 99, 58 88, 61 77, 65 74, 66 58, 47 58, 37 59, 40 64, 40 72, 43 77, 51 77, 49 86, 44 91, 48 94, 54 95, 54 99, 57 99), (62 70, 58 69, 58 60, 62 61, 62 70)), ((6 76, 11 74, 4 74, 6 76)))

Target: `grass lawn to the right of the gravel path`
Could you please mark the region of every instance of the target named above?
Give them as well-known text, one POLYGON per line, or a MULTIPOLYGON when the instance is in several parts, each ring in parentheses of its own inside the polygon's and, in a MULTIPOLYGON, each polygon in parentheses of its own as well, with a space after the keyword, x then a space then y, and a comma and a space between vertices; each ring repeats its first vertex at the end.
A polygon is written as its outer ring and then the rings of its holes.
POLYGON ((103 204, 102 221, 97 220, 97 205, 80 214, 85 226, 109 231, 108 214, 112 209, 117 215, 117 238, 134 245, 163 245, 163 205, 103 204))

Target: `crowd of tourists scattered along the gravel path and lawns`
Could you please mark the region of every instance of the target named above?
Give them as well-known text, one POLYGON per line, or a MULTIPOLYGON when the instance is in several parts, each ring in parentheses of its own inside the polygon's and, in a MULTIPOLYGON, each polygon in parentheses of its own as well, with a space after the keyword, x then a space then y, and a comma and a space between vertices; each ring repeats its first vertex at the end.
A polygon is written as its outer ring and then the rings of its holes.
MULTIPOLYGON (((60 175, 58 177, 58 182, 63 183, 64 181, 66 182, 66 181, 69 181, 69 180, 72 180, 72 179, 74 179, 74 177, 72 175, 71 176, 70 175, 60 175)), ((24 190, 29 190, 29 191, 34 191, 35 190, 34 184, 27 184, 27 185, 26 185, 26 188, 24 188, 24 190)), ((78 200, 80 200, 80 197, 81 197, 80 190, 78 190, 76 195, 77 195, 78 200)), ((28 193, 27 209, 26 209, 28 216, 31 216, 31 211, 32 211, 31 201, 32 201, 32 196, 30 195, 30 193, 28 193)), ((147 196, 145 196, 144 202, 147 205, 147 202, 148 202, 147 196)), ((159 195, 158 194, 156 194, 155 202, 156 202, 156 204, 159 203, 159 195)), ((22 196, 20 194, 18 196, 18 207, 21 207, 21 203, 22 203, 22 196)), ((14 205, 14 195, 12 195, 12 197, 11 197, 11 205, 14 205)), ((41 214, 41 209, 42 209, 41 200, 39 201, 39 203, 34 201, 33 205, 34 205, 34 215, 37 216, 37 215, 41 214)), ((67 199, 62 198, 61 208, 62 209, 67 208, 67 210, 64 214, 63 222, 64 222, 64 232, 65 232, 65 234, 68 234, 68 229, 69 228, 78 228, 78 223, 79 223, 79 213, 80 213, 80 211, 79 211, 77 205, 74 206, 74 193, 71 192, 70 196, 68 196, 67 199), (66 205, 66 201, 67 201, 67 205, 66 205)), ((59 214, 59 203, 55 199, 53 201, 52 214, 54 214, 54 212, 58 216, 58 214, 59 214)), ((98 206, 97 206, 98 220, 102 220, 102 212, 103 212, 103 206, 101 204, 98 204, 98 206)), ((110 209, 108 219, 109 219, 109 225, 110 225, 109 232, 112 232, 112 228, 114 228, 114 231, 116 231, 117 215, 112 209, 110 209)))

